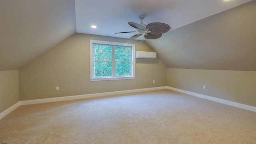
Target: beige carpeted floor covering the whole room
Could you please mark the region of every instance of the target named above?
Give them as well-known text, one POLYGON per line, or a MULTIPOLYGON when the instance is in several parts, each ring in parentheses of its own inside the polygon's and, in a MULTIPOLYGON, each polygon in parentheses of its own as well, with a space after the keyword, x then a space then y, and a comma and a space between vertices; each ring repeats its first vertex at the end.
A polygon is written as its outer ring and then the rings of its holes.
POLYGON ((8 144, 256 144, 256 112, 172 90, 20 106, 8 144))

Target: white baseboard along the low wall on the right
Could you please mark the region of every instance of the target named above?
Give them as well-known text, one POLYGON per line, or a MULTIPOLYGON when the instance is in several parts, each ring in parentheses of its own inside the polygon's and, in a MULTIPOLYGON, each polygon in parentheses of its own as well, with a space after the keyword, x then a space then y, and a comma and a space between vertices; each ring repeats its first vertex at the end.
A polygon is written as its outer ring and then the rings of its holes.
POLYGON ((176 92, 181 92, 181 93, 184 93, 184 94, 189 94, 191 96, 196 96, 196 97, 199 97, 199 98, 204 98, 204 99, 211 100, 211 101, 214 101, 214 102, 219 102, 219 103, 222 103, 222 104, 226 104, 226 105, 234 106, 234 107, 237 107, 237 108, 242 108, 242 109, 245 109, 245 110, 250 110, 250 111, 256 112, 256 107, 254 107, 254 106, 248 106, 246 104, 240 104, 240 103, 237 103, 237 102, 223 100, 223 99, 220 99, 220 98, 214 98, 212 96, 206 96, 206 95, 198 94, 198 93, 195 93, 195 92, 189 92, 189 91, 181 90, 181 89, 178 89, 178 88, 172 88, 170 86, 166 86, 166 88, 169 89, 169 90, 174 90, 176 92))

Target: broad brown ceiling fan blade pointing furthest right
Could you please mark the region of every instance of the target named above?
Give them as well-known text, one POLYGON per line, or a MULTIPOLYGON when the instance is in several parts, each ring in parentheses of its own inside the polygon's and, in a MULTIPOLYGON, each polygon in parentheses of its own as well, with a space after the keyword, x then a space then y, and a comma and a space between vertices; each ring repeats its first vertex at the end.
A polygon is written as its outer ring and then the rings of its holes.
POLYGON ((146 28, 151 31, 151 34, 164 34, 171 29, 168 24, 164 24, 162 22, 152 22, 148 24, 146 28))

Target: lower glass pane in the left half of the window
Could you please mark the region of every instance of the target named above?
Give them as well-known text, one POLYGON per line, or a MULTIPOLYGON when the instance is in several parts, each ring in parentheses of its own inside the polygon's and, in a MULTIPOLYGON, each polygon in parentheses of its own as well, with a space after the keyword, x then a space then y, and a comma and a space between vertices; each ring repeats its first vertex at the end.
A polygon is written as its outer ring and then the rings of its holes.
POLYGON ((94 61, 94 76, 112 76, 112 62, 94 61))

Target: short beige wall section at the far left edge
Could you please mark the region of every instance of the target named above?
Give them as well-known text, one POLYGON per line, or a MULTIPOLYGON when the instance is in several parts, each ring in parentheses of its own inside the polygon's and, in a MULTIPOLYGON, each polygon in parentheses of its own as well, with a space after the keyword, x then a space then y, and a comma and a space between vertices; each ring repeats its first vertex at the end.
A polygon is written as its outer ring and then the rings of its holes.
POLYGON ((0 71, 0 113, 19 101, 19 71, 0 71))

